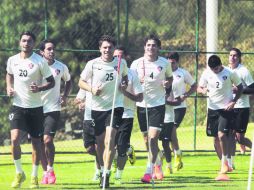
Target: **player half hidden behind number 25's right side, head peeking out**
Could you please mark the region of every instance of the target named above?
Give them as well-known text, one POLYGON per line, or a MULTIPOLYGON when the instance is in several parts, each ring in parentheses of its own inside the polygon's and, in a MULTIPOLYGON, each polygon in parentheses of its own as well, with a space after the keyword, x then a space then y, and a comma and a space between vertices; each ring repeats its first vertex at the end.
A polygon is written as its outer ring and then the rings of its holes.
MULTIPOLYGON (((114 52, 114 56, 122 56, 125 58, 126 50, 122 46, 117 46, 114 52)), ((136 102, 143 100, 143 89, 139 82, 136 73, 132 70, 128 70, 128 87, 123 89, 124 94, 124 113, 122 124, 120 125, 116 134, 116 146, 117 146, 117 170, 115 179, 117 183, 121 183, 122 173, 127 160, 127 154, 129 155, 129 161, 134 164, 135 153, 133 146, 130 146, 131 131, 133 128, 134 112, 136 108, 136 102), (132 155, 130 157, 130 155, 132 155)))

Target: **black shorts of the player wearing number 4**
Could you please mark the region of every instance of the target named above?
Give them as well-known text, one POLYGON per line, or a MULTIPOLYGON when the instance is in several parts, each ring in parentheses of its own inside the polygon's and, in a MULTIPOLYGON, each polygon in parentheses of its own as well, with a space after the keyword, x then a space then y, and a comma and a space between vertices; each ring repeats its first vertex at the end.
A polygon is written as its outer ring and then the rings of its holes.
MULTIPOLYGON (((162 129, 164 125, 165 105, 147 108, 148 127, 162 129)), ((147 132, 146 108, 137 107, 138 123, 141 132, 147 132)))

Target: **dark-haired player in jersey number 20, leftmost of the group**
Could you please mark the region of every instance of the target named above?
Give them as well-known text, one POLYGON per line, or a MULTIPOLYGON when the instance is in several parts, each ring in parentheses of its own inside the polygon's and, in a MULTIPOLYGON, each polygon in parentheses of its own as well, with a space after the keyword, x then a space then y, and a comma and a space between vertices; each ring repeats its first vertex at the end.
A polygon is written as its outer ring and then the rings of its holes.
POLYGON ((41 91, 55 85, 54 77, 43 58, 33 52, 36 37, 26 31, 20 35, 20 53, 7 62, 6 85, 8 96, 13 97, 9 114, 11 125, 11 152, 16 167, 16 176, 11 187, 19 188, 26 176, 21 165, 21 140, 27 132, 31 136, 34 156, 31 174, 31 188, 38 188, 38 167, 43 135, 43 103, 41 91), (42 83, 43 78, 46 79, 42 83))

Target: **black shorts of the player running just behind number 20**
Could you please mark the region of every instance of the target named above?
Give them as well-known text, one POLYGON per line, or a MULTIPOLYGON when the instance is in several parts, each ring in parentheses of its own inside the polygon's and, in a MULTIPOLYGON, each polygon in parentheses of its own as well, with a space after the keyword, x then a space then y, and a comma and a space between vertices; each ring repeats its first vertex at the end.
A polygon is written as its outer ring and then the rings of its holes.
POLYGON ((60 111, 44 113, 44 135, 55 136, 59 119, 60 111))

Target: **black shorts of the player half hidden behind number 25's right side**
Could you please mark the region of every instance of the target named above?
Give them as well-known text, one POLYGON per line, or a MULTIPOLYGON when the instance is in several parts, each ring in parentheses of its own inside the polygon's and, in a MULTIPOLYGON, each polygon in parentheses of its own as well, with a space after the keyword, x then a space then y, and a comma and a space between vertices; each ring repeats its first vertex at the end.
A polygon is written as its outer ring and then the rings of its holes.
POLYGON ((131 131, 133 127, 133 118, 123 118, 122 124, 119 127, 116 137, 115 143, 117 146, 126 146, 127 148, 130 145, 131 131))

